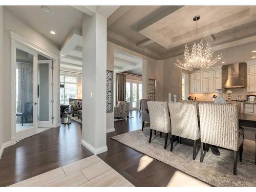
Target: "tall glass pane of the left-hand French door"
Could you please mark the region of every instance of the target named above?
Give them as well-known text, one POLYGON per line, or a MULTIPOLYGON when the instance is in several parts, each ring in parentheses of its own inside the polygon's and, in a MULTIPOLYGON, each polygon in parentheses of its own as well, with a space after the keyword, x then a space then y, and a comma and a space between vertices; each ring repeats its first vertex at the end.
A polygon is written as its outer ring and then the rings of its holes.
POLYGON ((16 131, 33 127, 33 55, 16 50, 16 131))

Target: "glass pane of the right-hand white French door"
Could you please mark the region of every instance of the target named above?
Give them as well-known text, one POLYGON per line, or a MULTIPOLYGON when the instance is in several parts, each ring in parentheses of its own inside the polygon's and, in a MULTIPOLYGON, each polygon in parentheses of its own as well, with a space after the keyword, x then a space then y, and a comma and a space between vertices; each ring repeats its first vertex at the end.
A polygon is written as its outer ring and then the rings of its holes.
POLYGON ((37 112, 39 121, 49 121, 49 63, 38 63, 37 112))

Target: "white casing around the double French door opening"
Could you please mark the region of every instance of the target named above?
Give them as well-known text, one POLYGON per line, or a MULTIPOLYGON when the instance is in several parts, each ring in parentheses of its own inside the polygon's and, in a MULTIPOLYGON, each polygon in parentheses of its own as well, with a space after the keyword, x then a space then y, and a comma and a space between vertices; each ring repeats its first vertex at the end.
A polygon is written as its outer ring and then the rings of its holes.
POLYGON ((38 54, 45 55, 53 60, 53 127, 60 126, 59 114, 59 56, 45 50, 26 38, 18 35, 13 31, 10 32, 11 37, 11 144, 16 142, 16 48, 17 45, 23 45, 36 51, 38 54))

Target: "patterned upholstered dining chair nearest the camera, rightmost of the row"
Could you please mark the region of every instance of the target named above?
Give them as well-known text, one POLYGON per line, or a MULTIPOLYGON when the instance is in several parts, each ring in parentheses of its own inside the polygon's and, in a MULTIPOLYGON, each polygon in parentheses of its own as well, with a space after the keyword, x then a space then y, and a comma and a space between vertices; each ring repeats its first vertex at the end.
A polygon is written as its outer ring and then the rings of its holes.
POLYGON ((242 161, 244 129, 238 124, 238 108, 232 104, 199 104, 201 155, 205 143, 233 151, 233 175, 237 175, 237 152, 242 161))

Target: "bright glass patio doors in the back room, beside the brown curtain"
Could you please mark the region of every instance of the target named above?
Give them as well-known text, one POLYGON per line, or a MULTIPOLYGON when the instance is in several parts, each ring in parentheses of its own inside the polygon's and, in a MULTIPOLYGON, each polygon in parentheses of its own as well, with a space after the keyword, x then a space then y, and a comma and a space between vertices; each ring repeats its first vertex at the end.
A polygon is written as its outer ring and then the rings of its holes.
POLYGON ((131 103, 132 109, 139 109, 139 100, 142 99, 142 82, 126 81, 126 101, 131 103))

